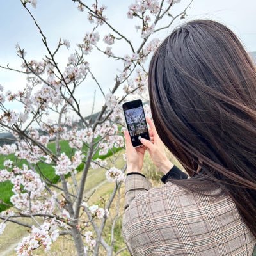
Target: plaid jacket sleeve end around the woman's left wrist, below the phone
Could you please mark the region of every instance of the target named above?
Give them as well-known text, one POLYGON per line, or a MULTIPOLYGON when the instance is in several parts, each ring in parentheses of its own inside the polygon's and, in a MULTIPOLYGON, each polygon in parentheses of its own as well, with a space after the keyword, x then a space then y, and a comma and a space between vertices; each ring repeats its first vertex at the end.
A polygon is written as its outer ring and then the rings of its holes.
POLYGON ((152 184, 146 177, 138 174, 127 175, 125 179, 125 204, 124 209, 127 209, 132 200, 144 191, 152 188, 152 184))

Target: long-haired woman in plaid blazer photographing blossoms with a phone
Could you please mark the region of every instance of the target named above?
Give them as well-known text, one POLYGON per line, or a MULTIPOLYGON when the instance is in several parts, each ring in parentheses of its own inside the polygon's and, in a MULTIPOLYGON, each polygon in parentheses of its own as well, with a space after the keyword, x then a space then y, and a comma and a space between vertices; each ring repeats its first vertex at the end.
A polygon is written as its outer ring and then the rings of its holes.
POLYGON ((151 141, 125 132, 122 235, 132 255, 252 255, 256 243, 256 68, 236 35, 211 20, 175 29, 148 74, 151 141), (159 134, 159 136, 158 136, 159 134), (190 179, 164 154, 163 145, 190 179), (146 148, 170 177, 152 188, 146 148), (170 172, 168 172, 170 170, 170 172), (172 175, 172 172, 174 173, 172 175))

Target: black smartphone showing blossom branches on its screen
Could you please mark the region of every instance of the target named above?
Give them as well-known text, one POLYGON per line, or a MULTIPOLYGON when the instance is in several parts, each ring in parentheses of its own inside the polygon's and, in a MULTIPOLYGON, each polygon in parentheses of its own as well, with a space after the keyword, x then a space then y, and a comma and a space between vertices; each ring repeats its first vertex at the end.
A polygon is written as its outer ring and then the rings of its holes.
POLYGON ((141 138, 150 140, 142 101, 139 99, 125 102, 123 110, 132 146, 139 147, 142 145, 141 138))

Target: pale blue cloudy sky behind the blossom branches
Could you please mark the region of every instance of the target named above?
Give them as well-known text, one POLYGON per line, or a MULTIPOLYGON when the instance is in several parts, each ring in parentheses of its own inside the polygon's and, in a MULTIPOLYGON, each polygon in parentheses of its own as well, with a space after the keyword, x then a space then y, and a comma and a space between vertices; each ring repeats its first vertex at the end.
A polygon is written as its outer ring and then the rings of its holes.
MULTIPOLYGON (((100 1, 108 6, 106 15, 115 28, 123 31, 125 36, 131 38, 134 45, 138 47, 141 42, 139 33, 134 26, 138 24, 136 20, 127 19, 127 7, 135 0, 100 1)), ((172 14, 177 14, 184 10, 190 0, 181 0, 179 4, 173 6, 172 14)), ((93 1, 86 0, 86 3, 93 1)), ((37 8, 29 6, 29 10, 35 15, 40 27, 49 40, 52 49, 58 44, 59 38, 70 40, 71 47, 67 50, 61 48, 57 58, 60 67, 64 68, 67 58, 76 49, 76 44, 83 41, 83 36, 87 31, 92 31, 92 24, 87 20, 86 12, 79 12, 77 4, 72 0, 38 0, 37 8)), ((173 28, 179 26, 181 22, 193 19, 214 19, 226 24, 242 40, 247 51, 256 51, 256 1, 244 0, 194 0, 188 10, 188 17, 185 20, 177 20, 170 29, 161 31, 158 37, 163 39, 168 36, 173 28)), ((29 60, 40 60, 46 53, 40 35, 29 17, 26 10, 22 7, 19 0, 3 1, 0 8, 0 65, 9 64, 10 67, 20 68, 21 61, 15 53, 15 45, 19 42, 20 47, 25 48, 26 57, 29 60)), ((100 36, 109 33, 109 29, 101 27, 100 36)), ((100 38, 99 46, 106 47, 100 38)), ((118 42, 115 44, 115 52, 122 54, 129 53, 127 45, 118 42)), ((105 93, 109 92, 114 84, 116 69, 121 69, 122 65, 118 61, 110 61, 100 52, 92 52, 86 57, 95 77, 99 80, 105 93)), ((0 68, 0 84, 4 90, 17 92, 26 86, 26 77, 16 72, 10 72, 0 68)), ((97 90, 97 85, 92 79, 88 78, 77 90, 77 97, 81 102, 81 109, 84 115, 88 115, 92 109, 93 95, 97 90)), ((102 95, 96 92, 95 111, 99 111, 102 106, 102 95)), ((19 104, 9 103, 8 108, 18 109, 19 104)))

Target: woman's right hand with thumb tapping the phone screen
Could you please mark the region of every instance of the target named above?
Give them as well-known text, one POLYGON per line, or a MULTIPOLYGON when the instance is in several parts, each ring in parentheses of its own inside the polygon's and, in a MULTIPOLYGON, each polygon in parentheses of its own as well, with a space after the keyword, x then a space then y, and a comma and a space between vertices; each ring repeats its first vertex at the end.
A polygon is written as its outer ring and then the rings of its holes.
POLYGON ((173 163, 167 158, 165 154, 164 143, 159 138, 154 123, 148 117, 146 118, 146 120, 150 127, 150 141, 144 138, 142 138, 140 141, 145 147, 148 148, 148 152, 150 154, 150 157, 152 158, 153 163, 159 168, 161 172, 166 174, 173 167, 173 163))

